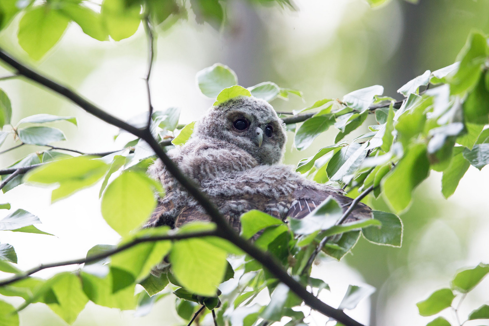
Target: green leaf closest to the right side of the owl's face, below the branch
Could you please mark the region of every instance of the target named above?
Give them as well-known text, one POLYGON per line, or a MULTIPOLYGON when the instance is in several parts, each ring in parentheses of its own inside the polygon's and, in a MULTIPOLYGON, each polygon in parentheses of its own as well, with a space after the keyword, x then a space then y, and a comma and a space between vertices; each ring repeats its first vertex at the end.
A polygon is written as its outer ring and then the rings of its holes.
POLYGON ((308 148, 320 133, 328 130, 333 124, 333 114, 317 115, 307 119, 295 133, 295 148, 299 151, 308 148))

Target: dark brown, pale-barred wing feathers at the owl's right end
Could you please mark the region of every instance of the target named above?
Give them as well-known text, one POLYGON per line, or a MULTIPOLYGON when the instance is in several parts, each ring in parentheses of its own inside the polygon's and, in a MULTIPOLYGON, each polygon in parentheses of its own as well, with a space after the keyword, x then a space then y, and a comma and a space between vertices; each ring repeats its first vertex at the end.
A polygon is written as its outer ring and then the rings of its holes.
MULTIPOLYGON (((337 192, 329 192, 303 187, 295 190, 292 193, 292 201, 287 216, 293 218, 306 217, 329 196, 333 196, 333 199, 338 202, 340 207, 343 209, 343 212, 345 212, 348 207, 350 207, 350 204, 353 201, 352 198, 343 196, 341 194, 338 194, 337 192)), ((345 222, 372 217, 373 216, 371 208, 364 203, 358 203, 356 205, 356 208, 353 210, 353 212, 350 214, 345 222)))

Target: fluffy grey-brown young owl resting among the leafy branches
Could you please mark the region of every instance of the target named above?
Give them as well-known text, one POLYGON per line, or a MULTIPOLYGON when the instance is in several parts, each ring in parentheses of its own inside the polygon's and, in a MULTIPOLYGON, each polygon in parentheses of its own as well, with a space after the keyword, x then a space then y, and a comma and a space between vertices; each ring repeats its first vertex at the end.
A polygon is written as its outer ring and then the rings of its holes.
MULTIPOLYGON (((211 107, 189 141, 168 155, 238 232, 240 216, 252 209, 282 220, 302 218, 332 196, 345 211, 352 199, 342 190, 280 164, 286 141, 285 125, 275 110, 264 100, 241 96, 211 107)), ((162 183, 165 196, 158 199, 146 227, 210 220, 159 159, 148 172, 162 183)), ((370 208, 359 203, 348 220, 370 217, 370 208)))

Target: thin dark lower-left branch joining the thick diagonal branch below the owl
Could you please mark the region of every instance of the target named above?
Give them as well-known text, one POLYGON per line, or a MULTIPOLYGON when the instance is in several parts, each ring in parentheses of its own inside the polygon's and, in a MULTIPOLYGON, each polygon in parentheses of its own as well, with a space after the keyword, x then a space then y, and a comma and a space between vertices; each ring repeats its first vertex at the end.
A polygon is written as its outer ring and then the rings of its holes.
POLYGON ((212 237, 212 236, 214 236, 214 237, 218 236, 217 232, 216 231, 202 231, 202 232, 194 232, 194 233, 183 233, 183 234, 174 234, 174 235, 136 238, 136 239, 133 239, 132 241, 130 241, 126 244, 123 244, 120 247, 114 248, 112 250, 108 250, 108 251, 100 253, 98 255, 93 255, 93 256, 89 256, 87 258, 80 258, 80 259, 75 259, 75 260, 71 260, 71 261, 59 261, 59 262, 51 262, 48 264, 41 264, 37 267, 34 267, 32 269, 25 271, 23 274, 15 275, 9 279, 6 279, 4 281, 0 281, 0 286, 23 280, 23 279, 29 277, 30 275, 37 273, 37 272, 39 272, 43 269, 46 269, 46 268, 67 266, 67 265, 79 265, 79 264, 99 261, 101 259, 108 258, 112 255, 117 254, 118 252, 127 250, 127 249, 129 249, 129 248, 131 248, 131 247, 133 247, 139 243, 143 243, 143 242, 154 242, 154 241, 163 241, 163 240, 182 240, 182 239, 212 237))

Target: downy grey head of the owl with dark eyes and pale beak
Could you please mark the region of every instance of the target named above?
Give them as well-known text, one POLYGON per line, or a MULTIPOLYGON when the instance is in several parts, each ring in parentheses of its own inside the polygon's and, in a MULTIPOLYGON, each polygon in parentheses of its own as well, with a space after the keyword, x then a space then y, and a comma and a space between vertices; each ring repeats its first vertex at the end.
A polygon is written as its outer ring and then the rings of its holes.
POLYGON ((264 100, 240 96, 210 108, 193 137, 223 140, 239 146, 260 164, 280 161, 287 136, 284 123, 264 100))

